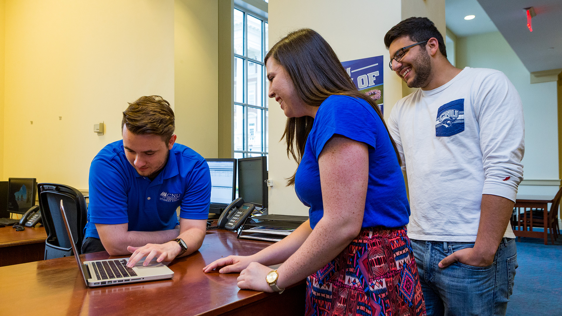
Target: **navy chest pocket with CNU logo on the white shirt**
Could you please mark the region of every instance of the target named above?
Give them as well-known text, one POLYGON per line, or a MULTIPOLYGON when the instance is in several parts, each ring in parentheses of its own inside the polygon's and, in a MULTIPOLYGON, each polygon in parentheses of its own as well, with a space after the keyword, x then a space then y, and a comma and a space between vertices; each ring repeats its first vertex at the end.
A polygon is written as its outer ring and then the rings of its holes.
POLYGON ((435 136, 453 136, 464 130, 464 99, 442 105, 437 110, 435 136))

